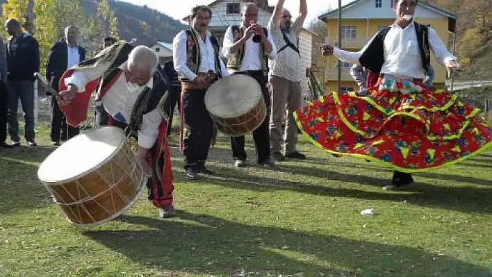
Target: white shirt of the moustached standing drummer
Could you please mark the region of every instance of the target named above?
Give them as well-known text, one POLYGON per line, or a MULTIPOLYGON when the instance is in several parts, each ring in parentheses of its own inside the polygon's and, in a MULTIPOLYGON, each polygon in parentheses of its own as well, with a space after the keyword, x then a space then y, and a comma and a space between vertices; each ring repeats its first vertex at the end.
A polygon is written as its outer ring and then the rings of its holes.
MULTIPOLYGON (((197 35, 198 45, 200 47, 200 53, 202 53, 202 60, 200 61, 200 67, 198 72, 208 72, 211 70, 215 72, 215 50, 213 49, 210 37, 212 36, 210 32, 206 32, 206 40, 203 41, 202 37, 192 28, 192 31, 197 35)), ((179 32, 172 40, 172 58, 174 62, 174 69, 181 75, 186 76, 188 80, 193 81, 197 74, 192 72, 186 65, 188 60, 188 53, 186 46, 188 44, 188 37, 186 36, 186 31, 179 32)), ((220 60, 220 70, 222 71, 222 77, 227 76, 227 70, 224 62, 220 60)), ((217 73, 217 72, 215 72, 217 73)))

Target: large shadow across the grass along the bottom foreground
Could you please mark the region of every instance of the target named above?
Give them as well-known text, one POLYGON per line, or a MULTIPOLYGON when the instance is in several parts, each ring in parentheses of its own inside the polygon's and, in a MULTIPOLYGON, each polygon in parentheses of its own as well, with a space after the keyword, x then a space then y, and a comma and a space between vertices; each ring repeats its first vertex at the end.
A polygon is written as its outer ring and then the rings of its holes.
POLYGON ((190 274, 488 276, 490 273, 490 269, 429 253, 418 246, 394 246, 239 224, 185 211, 179 215, 183 222, 122 216, 117 220, 151 230, 90 230, 83 234, 142 265, 190 274))

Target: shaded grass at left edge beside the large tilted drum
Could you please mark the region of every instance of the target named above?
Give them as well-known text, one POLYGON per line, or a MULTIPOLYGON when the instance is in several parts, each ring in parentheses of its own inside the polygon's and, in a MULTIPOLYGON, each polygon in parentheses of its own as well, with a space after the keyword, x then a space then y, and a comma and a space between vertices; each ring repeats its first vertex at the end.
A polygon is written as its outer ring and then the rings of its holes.
POLYGON ((25 147, 0 151, 0 215, 51 205, 49 193, 38 180, 38 166, 51 147, 25 147))

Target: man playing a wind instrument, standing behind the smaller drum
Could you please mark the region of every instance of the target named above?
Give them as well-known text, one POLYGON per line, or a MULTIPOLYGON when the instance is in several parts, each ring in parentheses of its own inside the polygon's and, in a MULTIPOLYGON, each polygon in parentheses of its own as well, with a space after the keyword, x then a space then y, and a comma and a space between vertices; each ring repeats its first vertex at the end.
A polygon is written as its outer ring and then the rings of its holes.
MULTIPOLYGON (((277 48, 272 36, 266 28, 258 23, 258 7, 254 3, 246 3, 241 11, 241 26, 229 26, 224 35, 222 53, 227 58, 229 74, 246 74, 255 78, 261 86, 263 99, 270 110, 270 95, 266 87, 268 74, 268 59, 274 60, 277 48)), ((265 167, 274 167, 270 158, 270 135, 266 115, 263 123, 253 131, 256 146, 257 162, 265 167)), ((245 137, 231 137, 232 156, 235 167, 243 167, 246 161, 245 137)))

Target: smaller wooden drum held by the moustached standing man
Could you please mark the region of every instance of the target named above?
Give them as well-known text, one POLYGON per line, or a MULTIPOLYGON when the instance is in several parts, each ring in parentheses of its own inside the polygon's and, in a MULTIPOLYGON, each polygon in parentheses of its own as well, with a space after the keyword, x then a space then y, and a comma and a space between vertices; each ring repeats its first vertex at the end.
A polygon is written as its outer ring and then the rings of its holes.
POLYGON ((266 116, 260 84, 244 74, 221 78, 208 87, 205 106, 218 130, 232 136, 256 130, 266 116))

